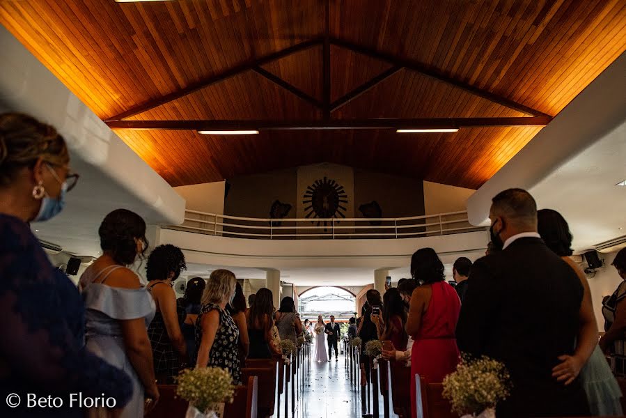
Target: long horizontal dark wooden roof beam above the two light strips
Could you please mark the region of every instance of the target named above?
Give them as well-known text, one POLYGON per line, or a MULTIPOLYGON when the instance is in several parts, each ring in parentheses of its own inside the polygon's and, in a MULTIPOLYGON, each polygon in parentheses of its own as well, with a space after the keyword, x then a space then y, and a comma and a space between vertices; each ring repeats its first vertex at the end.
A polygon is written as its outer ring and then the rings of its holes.
POLYGON ((353 119, 330 121, 107 121, 112 130, 339 130, 545 126, 549 116, 517 118, 353 119))

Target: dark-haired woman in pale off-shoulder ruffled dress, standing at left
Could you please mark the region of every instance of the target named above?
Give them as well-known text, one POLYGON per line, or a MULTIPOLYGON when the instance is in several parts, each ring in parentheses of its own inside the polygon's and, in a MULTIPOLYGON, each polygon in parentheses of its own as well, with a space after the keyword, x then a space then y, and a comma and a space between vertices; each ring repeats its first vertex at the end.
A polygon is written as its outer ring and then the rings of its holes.
POLYGON ((129 373, 132 401, 123 418, 141 417, 159 398, 147 327, 155 302, 127 266, 148 248, 146 222, 130 210, 109 213, 98 229, 102 256, 80 278, 87 307, 87 348, 129 373))

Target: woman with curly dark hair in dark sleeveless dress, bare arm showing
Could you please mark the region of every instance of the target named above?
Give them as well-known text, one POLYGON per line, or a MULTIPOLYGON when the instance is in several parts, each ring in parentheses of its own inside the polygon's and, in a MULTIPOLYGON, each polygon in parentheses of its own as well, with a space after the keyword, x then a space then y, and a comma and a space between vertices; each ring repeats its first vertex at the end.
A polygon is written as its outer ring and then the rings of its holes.
POLYGON ((180 331, 180 324, 185 321, 185 309, 176 304, 172 288, 173 281, 186 269, 185 256, 180 248, 171 244, 156 247, 146 264, 148 292, 157 307, 155 318, 148 327, 148 337, 159 383, 173 383, 173 378, 187 365, 187 344, 180 331))

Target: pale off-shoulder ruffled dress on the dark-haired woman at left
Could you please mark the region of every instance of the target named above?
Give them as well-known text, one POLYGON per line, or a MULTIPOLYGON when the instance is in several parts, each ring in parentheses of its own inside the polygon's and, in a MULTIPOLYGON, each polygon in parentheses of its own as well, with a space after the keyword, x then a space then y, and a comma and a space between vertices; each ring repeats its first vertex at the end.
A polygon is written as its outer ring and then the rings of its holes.
POLYGON ((126 355, 120 320, 143 318, 146 328, 155 316, 155 302, 146 288, 127 289, 107 286, 107 278, 121 265, 109 265, 92 279, 81 277, 87 308, 87 348, 110 364, 123 369, 132 380, 133 396, 122 418, 143 417, 143 385, 126 355))

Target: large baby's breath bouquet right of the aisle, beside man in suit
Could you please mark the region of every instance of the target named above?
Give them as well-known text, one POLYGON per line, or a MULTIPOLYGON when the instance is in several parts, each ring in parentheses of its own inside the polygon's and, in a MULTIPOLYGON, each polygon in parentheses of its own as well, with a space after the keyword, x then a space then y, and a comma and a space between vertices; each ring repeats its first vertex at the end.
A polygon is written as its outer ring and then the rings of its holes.
POLYGON ((444 379, 444 398, 458 414, 493 415, 499 401, 510 393, 506 367, 489 357, 472 359, 463 355, 454 373, 444 379))

